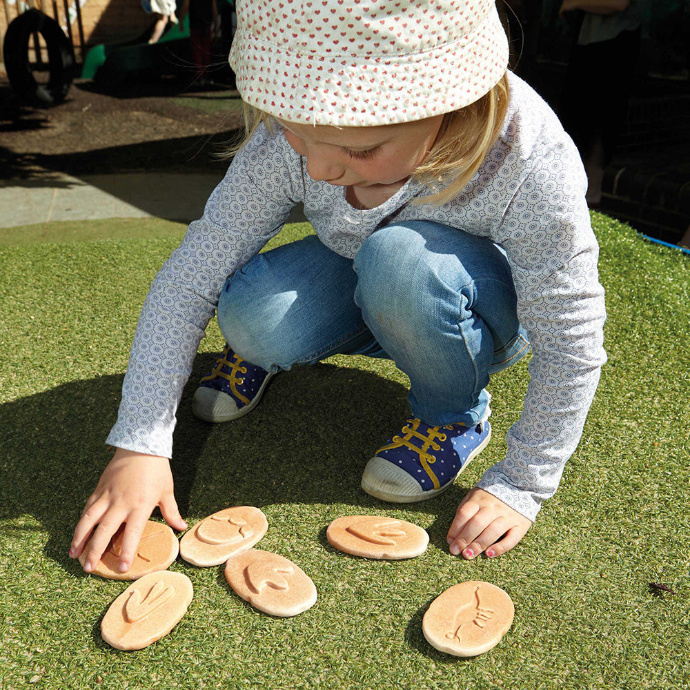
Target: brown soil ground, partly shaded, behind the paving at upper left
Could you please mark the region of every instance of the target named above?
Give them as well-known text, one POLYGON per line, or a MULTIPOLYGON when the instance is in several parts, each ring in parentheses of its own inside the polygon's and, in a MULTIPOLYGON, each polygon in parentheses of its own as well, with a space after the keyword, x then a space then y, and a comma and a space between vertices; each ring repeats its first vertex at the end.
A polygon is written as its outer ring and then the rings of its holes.
POLYGON ((0 77, 0 179, 224 170, 219 154, 236 136, 239 105, 231 91, 158 83, 104 93, 77 82, 59 106, 32 108, 0 77))

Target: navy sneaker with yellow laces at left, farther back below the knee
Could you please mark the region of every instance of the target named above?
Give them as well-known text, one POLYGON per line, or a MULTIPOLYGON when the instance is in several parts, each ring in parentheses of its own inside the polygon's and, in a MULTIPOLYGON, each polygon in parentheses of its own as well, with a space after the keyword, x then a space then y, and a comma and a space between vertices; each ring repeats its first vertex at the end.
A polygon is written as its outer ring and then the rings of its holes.
POLYGON ((273 373, 236 355, 229 345, 199 383, 192 412, 204 422, 229 422, 251 412, 273 373))

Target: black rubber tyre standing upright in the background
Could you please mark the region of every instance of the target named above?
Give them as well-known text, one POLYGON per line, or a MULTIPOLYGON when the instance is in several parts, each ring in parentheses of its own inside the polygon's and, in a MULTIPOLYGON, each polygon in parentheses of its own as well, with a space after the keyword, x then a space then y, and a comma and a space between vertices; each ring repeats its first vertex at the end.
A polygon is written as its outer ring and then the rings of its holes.
POLYGON ((8 79, 19 96, 39 108, 61 103, 75 75, 75 52, 55 19, 39 10, 27 10, 10 22, 3 43, 3 59, 8 79), (29 39, 39 33, 48 46, 50 78, 39 84, 29 64, 29 39))

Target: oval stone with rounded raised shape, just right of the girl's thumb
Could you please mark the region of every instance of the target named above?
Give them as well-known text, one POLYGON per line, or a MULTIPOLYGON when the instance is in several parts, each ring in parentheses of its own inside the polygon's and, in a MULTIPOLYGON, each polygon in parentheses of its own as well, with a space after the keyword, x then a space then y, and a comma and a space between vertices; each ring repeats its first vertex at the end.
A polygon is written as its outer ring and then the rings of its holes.
POLYGON ((266 515, 258 508, 226 508, 190 527, 179 542, 179 554, 194 565, 220 565, 230 556, 251 549, 266 530, 266 515))

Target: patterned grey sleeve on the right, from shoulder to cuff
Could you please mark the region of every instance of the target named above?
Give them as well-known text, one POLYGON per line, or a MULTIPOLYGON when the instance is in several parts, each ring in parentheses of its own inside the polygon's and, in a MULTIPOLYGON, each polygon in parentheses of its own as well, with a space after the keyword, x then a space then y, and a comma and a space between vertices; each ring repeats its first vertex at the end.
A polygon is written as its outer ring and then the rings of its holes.
POLYGON ((606 361, 604 290, 585 188, 572 142, 555 144, 534 162, 500 228, 533 357, 506 458, 478 486, 530 520, 558 488, 580 442, 606 361))

